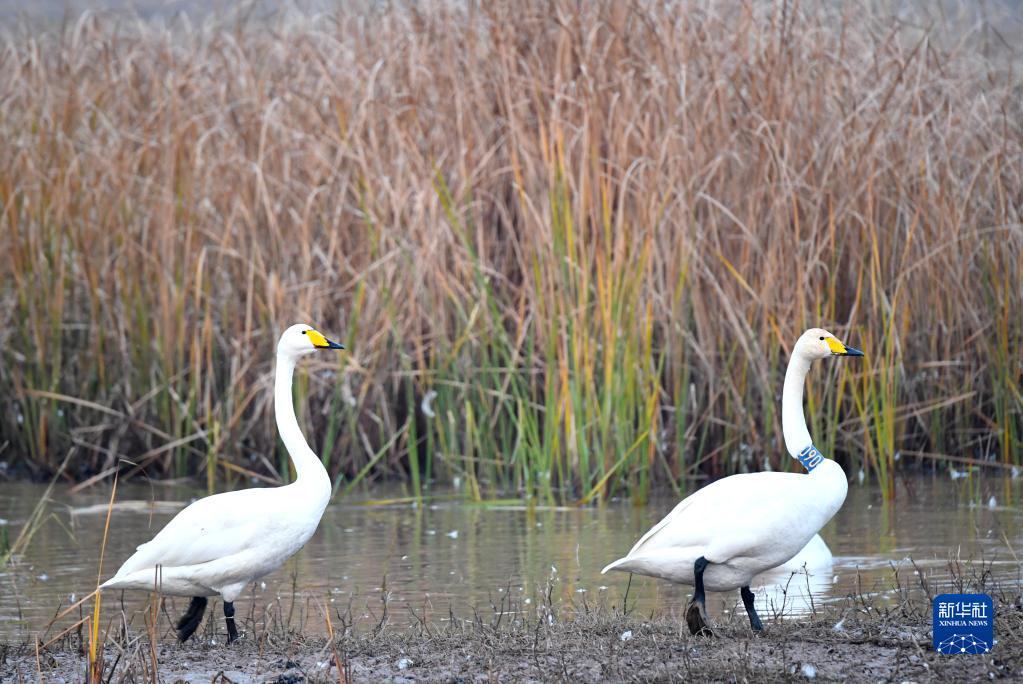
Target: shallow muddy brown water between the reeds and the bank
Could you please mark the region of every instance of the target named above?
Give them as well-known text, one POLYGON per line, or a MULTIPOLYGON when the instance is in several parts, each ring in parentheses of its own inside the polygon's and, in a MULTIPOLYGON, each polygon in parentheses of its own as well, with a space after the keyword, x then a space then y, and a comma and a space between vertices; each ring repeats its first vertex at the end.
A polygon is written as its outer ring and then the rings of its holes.
MULTIPOLYGON (((44 488, 0 484, 0 542, 10 542, 40 501, 44 488)), ((372 627, 387 596, 389 624, 471 618, 510 597, 520 607, 542 600, 550 587, 561 608, 604 603, 621 606, 629 578, 601 568, 628 551, 666 513, 673 499, 637 508, 626 502, 601 507, 468 505, 435 500, 424 506, 382 504, 394 493, 374 492, 331 504, 309 545, 284 568, 265 578, 237 602, 240 614, 279 605, 306 629, 322 629, 322 607, 347 610, 372 627), (298 606, 291 610, 294 602, 298 606), (278 599, 280 603, 277 604, 278 599), (410 610, 411 609, 411 610, 410 610)), ((134 547, 148 540, 185 502, 201 493, 166 487, 122 486, 110 521, 103 577, 134 547)), ((31 638, 54 612, 95 587, 108 491, 69 494, 56 489, 48 517, 28 550, 0 568, 0 639, 31 638)), ((893 504, 880 492, 852 486, 836 518, 821 531, 828 548, 805 558, 793 577, 775 571, 754 585, 761 614, 799 615, 857 591, 890 588, 892 563, 910 578, 911 557, 926 573, 945 576, 949 557, 993 562, 1003 579, 1019 582, 1014 551, 1023 552, 1023 478, 952 480, 948 475, 903 481, 893 504), (940 571, 940 572, 939 572, 940 571), (759 588, 758 588, 759 587, 759 588), (787 589, 787 590, 786 590, 787 589), (809 600, 812 596, 812 602, 809 600)), ((681 613, 688 587, 635 577, 628 606, 639 613, 681 613)), ((126 594, 118 608, 141 610, 146 597, 126 594)), ((712 594, 718 619, 742 604, 738 592, 712 594)), ((104 606, 109 604, 104 601, 104 606)), ((183 603, 181 604, 183 605, 183 603)), ((180 608, 181 605, 176 605, 180 608)), ((61 621, 66 625, 68 621, 61 621)), ((52 633, 52 632, 51 632, 52 633)))

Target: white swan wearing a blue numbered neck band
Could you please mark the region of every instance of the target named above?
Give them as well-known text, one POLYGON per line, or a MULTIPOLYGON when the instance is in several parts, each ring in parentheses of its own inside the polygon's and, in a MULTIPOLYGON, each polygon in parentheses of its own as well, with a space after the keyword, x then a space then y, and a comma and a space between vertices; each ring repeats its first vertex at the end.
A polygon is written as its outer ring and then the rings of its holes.
POLYGON ((705 591, 741 590, 750 626, 763 626, 750 582, 795 556, 845 501, 845 471, 810 439, 803 416, 803 384, 810 364, 834 356, 863 356, 821 328, 800 335, 782 392, 782 430, 789 455, 806 472, 751 472, 711 483, 681 501, 605 567, 693 585, 685 611, 693 634, 711 634, 705 591))

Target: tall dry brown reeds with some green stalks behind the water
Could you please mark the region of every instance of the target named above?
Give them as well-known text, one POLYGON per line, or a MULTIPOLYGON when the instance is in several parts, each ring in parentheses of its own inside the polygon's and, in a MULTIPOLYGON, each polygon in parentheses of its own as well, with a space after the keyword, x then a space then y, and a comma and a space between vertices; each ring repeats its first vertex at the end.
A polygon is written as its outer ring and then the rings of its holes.
POLYGON ((7 29, 3 458, 286 481, 273 345, 309 321, 351 350, 297 390, 339 487, 641 500, 792 468, 781 378, 815 324, 868 354, 808 396, 853 473, 1023 463, 1018 53, 872 7, 7 29))

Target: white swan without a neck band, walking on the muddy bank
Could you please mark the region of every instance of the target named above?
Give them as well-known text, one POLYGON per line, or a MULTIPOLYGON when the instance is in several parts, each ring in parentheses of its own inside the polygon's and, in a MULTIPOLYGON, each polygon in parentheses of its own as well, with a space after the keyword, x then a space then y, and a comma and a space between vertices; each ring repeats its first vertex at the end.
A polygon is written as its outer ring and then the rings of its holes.
POLYGON ((302 324, 284 330, 277 343, 273 408, 280 439, 295 463, 295 482, 199 499, 139 546, 100 589, 157 588, 167 595, 191 596, 177 625, 181 641, 198 628, 206 597, 219 594, 227 642, 237 638, 234 599, 250 582, 280 567, 309 541, 330 499, 330 478, 302 436, 292 399, 296 364, 321 349, 345 348, 302 324))

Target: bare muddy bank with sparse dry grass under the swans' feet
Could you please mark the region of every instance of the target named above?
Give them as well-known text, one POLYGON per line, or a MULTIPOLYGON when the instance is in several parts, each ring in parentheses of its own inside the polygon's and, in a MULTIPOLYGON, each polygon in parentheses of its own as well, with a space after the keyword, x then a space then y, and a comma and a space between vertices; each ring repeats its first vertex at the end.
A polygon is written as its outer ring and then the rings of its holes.
MULTIPOLYGON (((926 600, 926 599, 925 599, 926 600)), ((222 620, 179 645, 162 635, 157 673, 145 632, 122 630, 105 643, 110 682, 977 682, 1023 681, 1023 607, 996 601, 988 655, 930 650, 925 600, 877 608, 855 600, 815 619, 770 622, 754 635, 736 615, 712 638, 690 636, 672 618, 644 620, 610 609, 544 606, 488 609, 444 626, 362 631, 338 614, 335 638, 262 628, 224 644, 222 620), (218 630, 215 632, 215 630, 218 630), (341 664, 339 676, 338 664, 341 664)), ((521 607, 521 606, 520 606, 521 607)), ((252 629, 254 626, 247 626, 252 629)), ((30 644, 0 645, 3 682, 80 682, 85 649, 74 637, 38 657, 30 644)))

